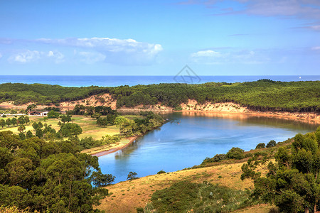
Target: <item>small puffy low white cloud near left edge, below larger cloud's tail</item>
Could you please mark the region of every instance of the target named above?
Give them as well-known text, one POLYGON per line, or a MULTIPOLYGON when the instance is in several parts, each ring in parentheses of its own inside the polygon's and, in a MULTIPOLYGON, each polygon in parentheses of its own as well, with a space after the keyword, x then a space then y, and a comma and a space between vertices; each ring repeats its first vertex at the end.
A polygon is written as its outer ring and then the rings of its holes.
POLYGON ((28 63, 43 59, 54 60, 55 62, 63 62, 64 55, 58 51, 41 52, 37 50, 22 50, 9 57, 9 62, 28 63))

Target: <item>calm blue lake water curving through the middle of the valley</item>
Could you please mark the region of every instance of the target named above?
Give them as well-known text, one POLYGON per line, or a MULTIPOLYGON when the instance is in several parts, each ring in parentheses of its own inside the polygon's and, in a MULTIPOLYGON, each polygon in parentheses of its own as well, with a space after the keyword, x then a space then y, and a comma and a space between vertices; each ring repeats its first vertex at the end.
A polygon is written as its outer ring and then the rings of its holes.
POLYGON ((232 147, 245 151, 257 143, 284 141, 296 133, 314 131, 316 125, 266 117, 215 113, 167 114, 171 122, 138 138, 122 151, 99 158, 103 173, 126 180, 130 171, 139 177, 159 170, 172 172, 199 165, 203 159, 232 147))

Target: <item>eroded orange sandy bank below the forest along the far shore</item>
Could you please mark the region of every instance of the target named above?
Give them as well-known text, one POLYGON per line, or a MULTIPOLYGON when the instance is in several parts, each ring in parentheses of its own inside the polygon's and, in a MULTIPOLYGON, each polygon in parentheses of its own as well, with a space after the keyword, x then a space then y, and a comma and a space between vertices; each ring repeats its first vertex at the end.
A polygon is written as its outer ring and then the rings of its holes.
MULTIPOLYGON (((29 104, 23 104, 16 106, 14 102, 2 102, 0 103, 0 108, 6 109, 26 109, 29 104)), ((59 108, 61 111, 67 111, 73 109, 75 105, 82 104, 85 106, 107 106, 111 107, 112 109, 117 109, 117 100, 113 99, 110 94, 100 94, 100 95, 93 95, 86 99, 81 99, 75 102, 61 102, 59 108)), ((38 105, 37 109, 43 109, 48 106, 38 105)), ((55 107, 51 105, 49 107, 55 107)), ((316 124, 320 124, 320 114, 319 113, 312 113, 312 112, 287 112, 287 111, 252 111, 247 109, 247 107, 242 107, 240 104, 235 104, 233 102, 224 102, 224 103, 211 103, 205 102, 203 104, 199 104, 196 100, 189 99, 188 103, 181 104, 181 111, 182 112, 219 112, 219 113, 235 113, 235 114, 252 114, 254 116, 271 116, 277 117, 279 119, 293 119, 305 122, 313 122, 316 124)), ((121 107, 117 109, 118 111, 142 111, 142 110, 150 110, 155 111, 157 113, 163 112, 168 113, 174 111, 172 107, 166 107, 161 103, 151 105, 151 106, 144 106, 139 105, 136 107, 121 107)), ((209 115, 210 116, 210 115, 209 115)))

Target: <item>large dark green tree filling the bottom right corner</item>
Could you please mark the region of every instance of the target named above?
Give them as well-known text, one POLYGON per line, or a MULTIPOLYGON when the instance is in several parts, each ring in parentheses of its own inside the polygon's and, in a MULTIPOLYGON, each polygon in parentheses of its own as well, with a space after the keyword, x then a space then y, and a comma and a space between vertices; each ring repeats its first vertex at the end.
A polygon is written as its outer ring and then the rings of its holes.
POLYGON ((297 134, 292 151, 280 147, 274 155, 276 164, 267 165, 269 173, 261 177, 255 169, 259 163, 248 160, 242 165, 242 179, 253 178, 253 195, 279 207, 280 212, 316 212, 320 197, 320 128, 316 133, 297 134))

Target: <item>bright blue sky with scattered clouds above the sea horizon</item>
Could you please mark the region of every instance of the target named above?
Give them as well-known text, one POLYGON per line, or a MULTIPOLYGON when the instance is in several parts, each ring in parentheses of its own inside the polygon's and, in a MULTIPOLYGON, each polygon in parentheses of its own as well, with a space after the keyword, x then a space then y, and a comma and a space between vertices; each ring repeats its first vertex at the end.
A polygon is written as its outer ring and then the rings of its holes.
POLYGON ((319 0, 0 1, 0 75, 320 75, 319 0))

